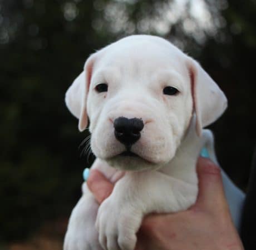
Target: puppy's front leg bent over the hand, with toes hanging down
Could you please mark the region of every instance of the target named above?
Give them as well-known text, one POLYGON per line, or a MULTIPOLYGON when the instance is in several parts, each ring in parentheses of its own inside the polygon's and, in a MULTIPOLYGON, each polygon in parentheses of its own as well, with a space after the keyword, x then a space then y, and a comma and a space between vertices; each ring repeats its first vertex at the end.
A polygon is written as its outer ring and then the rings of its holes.
POLYGON ((145 214, 187 209, 198 187, 157 171, 126 173, 101 204, 96 220, 104 249, 133 250, 136 232, 145 214))

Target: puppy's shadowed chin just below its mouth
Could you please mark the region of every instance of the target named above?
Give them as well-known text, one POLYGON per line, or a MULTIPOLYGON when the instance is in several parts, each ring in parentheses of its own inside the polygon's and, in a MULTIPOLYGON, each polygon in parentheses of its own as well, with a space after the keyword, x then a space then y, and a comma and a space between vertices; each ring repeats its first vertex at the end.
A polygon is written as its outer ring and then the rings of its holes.
POLYGON ((111 167, 122 171, 142 171, 142 170, 152 170, 160 168, 161 164, 156 164, 149 162, 139 156, 122 156, 117 155, 104 159, 111 167))

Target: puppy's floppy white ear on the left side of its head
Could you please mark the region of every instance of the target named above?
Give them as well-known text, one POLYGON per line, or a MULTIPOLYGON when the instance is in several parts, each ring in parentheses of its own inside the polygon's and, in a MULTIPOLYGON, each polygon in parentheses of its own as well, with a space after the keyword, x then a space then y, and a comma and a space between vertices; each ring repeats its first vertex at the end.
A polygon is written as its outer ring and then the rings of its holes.
POLYGON ((82 132, 88 124, 86 112, 86 100, 90 87, 92 68, 95 61, 95 54, 92 54, 86 61, 83 72, 73 81, 67 89, 65 102, 68 110, 79 119, 78 129, 82 132))

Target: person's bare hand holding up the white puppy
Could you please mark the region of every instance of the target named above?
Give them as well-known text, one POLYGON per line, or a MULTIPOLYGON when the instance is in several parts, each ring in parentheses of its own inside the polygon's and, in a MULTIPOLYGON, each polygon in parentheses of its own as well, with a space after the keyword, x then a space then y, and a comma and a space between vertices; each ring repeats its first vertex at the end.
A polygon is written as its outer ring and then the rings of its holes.
MULTIPOLYGON (((137 233, 135 250, 242 250, 225 199, 220 169, 200 157, 197 164, 199 194, 187 211, 146 216, 137 233)), ((88 187, 99 203, 114 187, 92 170, 88 187)))

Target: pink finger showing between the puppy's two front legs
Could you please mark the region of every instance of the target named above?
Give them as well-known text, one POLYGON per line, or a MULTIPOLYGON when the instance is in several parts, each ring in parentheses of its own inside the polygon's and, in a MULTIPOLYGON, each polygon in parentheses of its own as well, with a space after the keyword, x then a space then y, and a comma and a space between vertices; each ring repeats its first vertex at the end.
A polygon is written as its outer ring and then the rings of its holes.
POLYGON ((96 169, 91 169, 87 180, 87 186, 100 204, 110 196, 114 185, 96 169))

